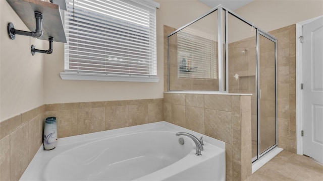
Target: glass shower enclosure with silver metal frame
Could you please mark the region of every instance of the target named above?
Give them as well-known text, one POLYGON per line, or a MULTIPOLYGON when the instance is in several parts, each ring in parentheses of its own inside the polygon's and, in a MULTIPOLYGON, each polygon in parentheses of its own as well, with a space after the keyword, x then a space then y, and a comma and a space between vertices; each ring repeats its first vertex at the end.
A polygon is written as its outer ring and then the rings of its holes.
POLYGON ((277 146, 277 39, 223 6, 168 36, 169 91, 252 94, 252 161, 277 146))

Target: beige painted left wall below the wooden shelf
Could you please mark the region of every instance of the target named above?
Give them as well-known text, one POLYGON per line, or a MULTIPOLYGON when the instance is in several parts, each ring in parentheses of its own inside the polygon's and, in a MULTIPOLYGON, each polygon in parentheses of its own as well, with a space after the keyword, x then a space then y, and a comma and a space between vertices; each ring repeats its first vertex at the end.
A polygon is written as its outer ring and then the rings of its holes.
MULTIPOLYGON (((33 17, 31 17, 33 18, 33 17)), ((32 56, 30 47, 43 48, 43 40, 17 35, 11 40, 6 27, 29 31, 7 1, 0 1, 0 121, 43 105, 43 54, 32 56)))

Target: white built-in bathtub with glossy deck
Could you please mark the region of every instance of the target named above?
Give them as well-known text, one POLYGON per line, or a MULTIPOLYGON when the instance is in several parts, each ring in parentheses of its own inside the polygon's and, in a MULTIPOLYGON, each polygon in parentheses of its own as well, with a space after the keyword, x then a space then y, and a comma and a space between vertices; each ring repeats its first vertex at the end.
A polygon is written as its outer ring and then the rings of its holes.
POLYGON ((53 150, 39 148, 20 179, 225 180, 225 168, 224 142, 163 121, 60 138, 53 150), (203 136, 202 156, 177 132, 203 136))

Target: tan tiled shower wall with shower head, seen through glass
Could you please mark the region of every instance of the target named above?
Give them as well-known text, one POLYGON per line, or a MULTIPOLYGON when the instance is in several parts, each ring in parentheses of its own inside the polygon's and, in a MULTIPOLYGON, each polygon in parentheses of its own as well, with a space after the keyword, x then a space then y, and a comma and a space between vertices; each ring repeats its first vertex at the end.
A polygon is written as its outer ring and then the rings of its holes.
MULTIPOLYGON (((229 44, 229 93, 251 93, 252 156, 257 155, 256 37, 229 44), (239 74, 235 79, 234 75, 239 74)), ((260 153, 276 142, 275 44, 260 36, 260 153), (268 44, 272 43, 272 44, 268 44)))

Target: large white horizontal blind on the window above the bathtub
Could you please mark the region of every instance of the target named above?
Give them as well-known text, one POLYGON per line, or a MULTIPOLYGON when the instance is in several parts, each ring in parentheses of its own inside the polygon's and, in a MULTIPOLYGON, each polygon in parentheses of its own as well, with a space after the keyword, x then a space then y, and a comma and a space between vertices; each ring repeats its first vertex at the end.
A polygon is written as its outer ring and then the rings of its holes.
POLYGON ((156 76, 155 7, 122 0, 66 3, 65 72, 156 76))

